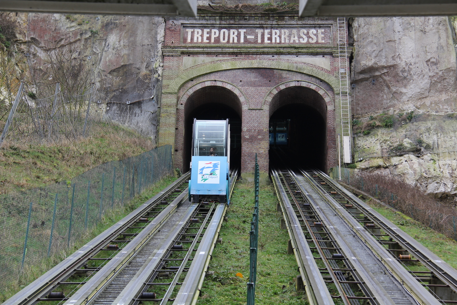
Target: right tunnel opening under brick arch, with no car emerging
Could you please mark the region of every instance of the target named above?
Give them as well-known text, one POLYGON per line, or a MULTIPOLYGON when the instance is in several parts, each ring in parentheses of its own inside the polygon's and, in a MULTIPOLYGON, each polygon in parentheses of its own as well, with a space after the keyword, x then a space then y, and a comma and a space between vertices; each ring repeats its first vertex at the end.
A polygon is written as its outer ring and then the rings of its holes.
POLYGON ((313 89, 291 86, 270 104, 270 163, 286 156, 291 165, 326 171, 327 107, 313 89))

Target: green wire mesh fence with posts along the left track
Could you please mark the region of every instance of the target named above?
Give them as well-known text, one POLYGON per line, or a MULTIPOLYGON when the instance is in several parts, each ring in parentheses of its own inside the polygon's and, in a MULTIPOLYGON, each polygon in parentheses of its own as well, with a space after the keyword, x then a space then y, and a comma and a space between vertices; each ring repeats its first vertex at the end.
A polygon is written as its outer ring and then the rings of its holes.
MULTIPOLYGON (((171 146, 86 171, 71 183, 0 196, 0 284, 72 246, 107 213, 171 173, 171 146)), ((67 252, 68 253, 68 252, 67 252)))

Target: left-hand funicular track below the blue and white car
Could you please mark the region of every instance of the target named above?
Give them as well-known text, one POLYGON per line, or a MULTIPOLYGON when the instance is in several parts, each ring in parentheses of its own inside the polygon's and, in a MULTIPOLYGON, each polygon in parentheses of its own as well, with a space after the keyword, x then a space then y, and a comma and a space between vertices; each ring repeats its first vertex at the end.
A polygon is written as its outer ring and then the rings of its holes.
MULTIPOLYGON (((231 172, 232 189, 236 176, 231 172)), ((171 183, 3 304, 194 302, 227 204, 189 202, 189 177, 171 183)))

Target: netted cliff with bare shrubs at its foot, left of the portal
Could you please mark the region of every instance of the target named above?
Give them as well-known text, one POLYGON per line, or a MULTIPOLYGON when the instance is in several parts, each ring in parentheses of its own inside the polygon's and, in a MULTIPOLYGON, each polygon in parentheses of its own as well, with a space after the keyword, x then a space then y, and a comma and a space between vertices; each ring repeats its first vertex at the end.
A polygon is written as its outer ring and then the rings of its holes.
POLYGON ((0 61, 0 121, 25 82, 9 139, 73 141, 116 121, 154 140, 162 25, 151 16, 28 14, 27 44, 0 61), (119 31, 134 38, 119 40, 119 31))

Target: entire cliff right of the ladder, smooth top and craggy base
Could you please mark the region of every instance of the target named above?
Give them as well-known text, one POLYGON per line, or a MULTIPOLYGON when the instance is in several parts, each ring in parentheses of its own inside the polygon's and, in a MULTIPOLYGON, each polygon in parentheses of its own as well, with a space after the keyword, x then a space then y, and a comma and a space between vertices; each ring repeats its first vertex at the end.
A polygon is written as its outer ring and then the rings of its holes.
POLYGON ((397 176, 436 198, 456 194, 452 18, 354 18, 351 25, 354 117, 363 123, 381 113, 394 122, 399 119, 394 114, 416 116, 403 125, 358 134, 355 160, 363 158, 356 163, 358 170, 397 176))

